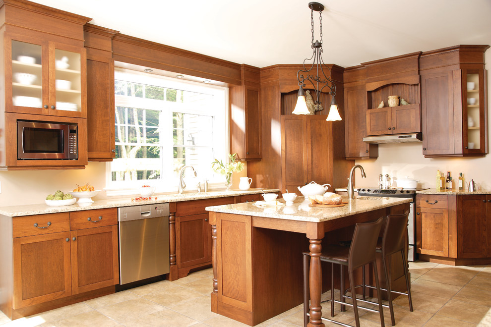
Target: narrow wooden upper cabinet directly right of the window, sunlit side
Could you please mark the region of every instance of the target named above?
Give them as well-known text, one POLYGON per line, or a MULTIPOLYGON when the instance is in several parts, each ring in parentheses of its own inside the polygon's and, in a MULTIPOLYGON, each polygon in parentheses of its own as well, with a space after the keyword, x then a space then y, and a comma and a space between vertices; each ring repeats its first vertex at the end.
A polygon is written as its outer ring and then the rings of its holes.
POLYGON ((262 157, 259 68, 242 65, 240 86, 230 88, 231 151, 241 160, 262 157))

